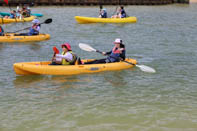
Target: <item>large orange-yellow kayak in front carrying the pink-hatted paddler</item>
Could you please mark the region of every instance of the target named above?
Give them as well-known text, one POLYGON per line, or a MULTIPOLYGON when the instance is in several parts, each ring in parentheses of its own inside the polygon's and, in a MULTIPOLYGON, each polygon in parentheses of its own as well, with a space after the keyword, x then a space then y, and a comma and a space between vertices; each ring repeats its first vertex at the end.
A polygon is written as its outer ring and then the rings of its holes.
MULTIPOLYGON (((87 61, 91 60, 83 60, 83 62, 87 61)), ((126 59, 125 61, 133 64, 137 63, 134 59, 126 59)), ((22 62, 15 63, 13 68, 17 75, 77 75, 102 71, 123 70, 134 66, 123 61, 106 64, 85 65, 48 65, 50 63, 50 61, 22 62)))

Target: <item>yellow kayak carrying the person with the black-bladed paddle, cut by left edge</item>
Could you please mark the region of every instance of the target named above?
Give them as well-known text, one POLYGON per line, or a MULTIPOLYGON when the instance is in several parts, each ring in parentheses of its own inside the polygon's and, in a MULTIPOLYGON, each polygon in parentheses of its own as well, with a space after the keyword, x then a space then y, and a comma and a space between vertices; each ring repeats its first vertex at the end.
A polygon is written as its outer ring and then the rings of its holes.
POLYGON ((6 33, 4 36, 0 36, 0 43, 1 42, 32 42, 32 41, 43 41, 49 39, 50 39, 49 34, 17 36, 17 34, 14 33, 6 33))

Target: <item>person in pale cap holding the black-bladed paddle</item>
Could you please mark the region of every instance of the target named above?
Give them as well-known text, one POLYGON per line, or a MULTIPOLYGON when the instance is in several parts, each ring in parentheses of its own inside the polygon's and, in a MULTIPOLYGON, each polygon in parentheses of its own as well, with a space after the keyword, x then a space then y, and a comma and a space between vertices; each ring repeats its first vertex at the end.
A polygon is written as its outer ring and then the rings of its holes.
POLYGON ((32 27, 29 29, 28 33, 20 33, 15 34, 16 36, 32 36, 32 35, 39 35, 40 32, 40 21, 38 19, 34 19, 32 21, 32 27))

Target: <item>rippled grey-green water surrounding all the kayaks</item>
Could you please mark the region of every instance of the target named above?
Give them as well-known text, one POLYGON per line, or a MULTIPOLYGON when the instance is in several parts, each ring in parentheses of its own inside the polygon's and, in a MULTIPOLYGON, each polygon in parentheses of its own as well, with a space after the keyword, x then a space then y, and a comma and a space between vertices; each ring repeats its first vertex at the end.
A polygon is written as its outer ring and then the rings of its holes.
MULTIPOLYGON (((108 16, 115 6, 105 6, 108 16)), ((77 24, 74 16, 97 17, 99 6, 39 6, 38 43, 0 43, 0 131, 196 131, 197 4, 125 6, 132 24, 77 24), (75 76, 18 76, 13 63, 51 60, 52 47, 69 42, 81 58, 103 58, 78 47, 109 51, 121 38, 127 57, 156 69, 75 76)), ((9 8, 0 7, 8 12, 9 8)), ((31 23, 3 25, 7 32, 31 23)))

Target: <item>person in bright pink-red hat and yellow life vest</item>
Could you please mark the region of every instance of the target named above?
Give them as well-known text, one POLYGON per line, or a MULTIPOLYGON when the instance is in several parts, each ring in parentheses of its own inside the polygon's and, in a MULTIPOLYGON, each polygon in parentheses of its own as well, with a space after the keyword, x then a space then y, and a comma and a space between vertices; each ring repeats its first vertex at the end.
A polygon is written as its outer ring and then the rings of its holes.
POLYGON ((52 58, 52 63, 49 65, 75 65, 78 62, 77 60, 78 57, 72 52, 70 44, 64 43, 62 44, 62 53, 55 54, 52 58))

